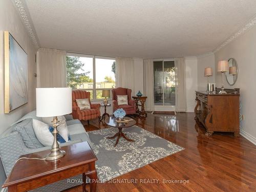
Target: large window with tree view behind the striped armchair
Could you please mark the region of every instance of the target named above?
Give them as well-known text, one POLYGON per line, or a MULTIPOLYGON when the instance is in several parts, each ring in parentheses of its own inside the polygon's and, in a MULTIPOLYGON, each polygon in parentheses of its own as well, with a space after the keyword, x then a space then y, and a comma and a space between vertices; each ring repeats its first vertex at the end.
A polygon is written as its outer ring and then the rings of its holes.
POLYGON ((91 100, 104 99, 102 90, 116 86, 116 60, 81 54, 67 54, 67 86, 90 91, 91 100))

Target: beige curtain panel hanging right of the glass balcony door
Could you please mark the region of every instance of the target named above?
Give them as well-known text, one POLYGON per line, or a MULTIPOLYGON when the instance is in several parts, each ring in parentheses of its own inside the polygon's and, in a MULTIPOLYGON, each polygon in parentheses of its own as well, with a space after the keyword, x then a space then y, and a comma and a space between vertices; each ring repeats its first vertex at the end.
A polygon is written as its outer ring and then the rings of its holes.
POLYGON ((185 59, 175 58, 175 103, 177 112, 186 112, 186 83, 185 83, 185 59))

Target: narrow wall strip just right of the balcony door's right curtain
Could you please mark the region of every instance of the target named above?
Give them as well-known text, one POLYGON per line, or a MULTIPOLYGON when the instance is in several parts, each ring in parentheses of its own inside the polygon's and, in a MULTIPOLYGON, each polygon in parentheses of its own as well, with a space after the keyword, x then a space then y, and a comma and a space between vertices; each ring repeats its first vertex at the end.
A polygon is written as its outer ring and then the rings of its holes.
POLYGON ((195 91, 198 90, 198 61, 197 57, 185 57, 186 65, 186 100, 187 112, 194 112, 196 106, 195 91))

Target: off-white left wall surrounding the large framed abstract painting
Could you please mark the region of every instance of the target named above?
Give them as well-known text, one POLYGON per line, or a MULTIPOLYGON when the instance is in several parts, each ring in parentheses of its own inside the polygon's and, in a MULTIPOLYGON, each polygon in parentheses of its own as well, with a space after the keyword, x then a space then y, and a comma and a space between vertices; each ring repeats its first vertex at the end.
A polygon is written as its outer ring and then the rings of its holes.
POLYGON ((35 53, 32 41, 24 24, 10 0, 0 1, 0 134, 17 119, 35 109, 36 73, 35 53), (4 114, 4 31, 9 31, 28 54, 29 101, 27 104, 4 114))

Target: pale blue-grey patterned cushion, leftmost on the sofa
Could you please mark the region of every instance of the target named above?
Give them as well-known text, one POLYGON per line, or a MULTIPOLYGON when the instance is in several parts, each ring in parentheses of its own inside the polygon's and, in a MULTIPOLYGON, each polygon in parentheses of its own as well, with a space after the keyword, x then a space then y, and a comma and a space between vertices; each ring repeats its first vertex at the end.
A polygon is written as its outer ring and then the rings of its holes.
POLYGON ((22 140, 24 144, 28 148, 39 148, 43 147, 42 145, 36 138, 33 126, 32 126, 33 119, 25 119, 22 122, 17 123, 14 125, 15 127, 13 128, 14 131, 17 131, 20 136, 22 137, 22 140))

